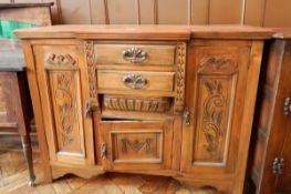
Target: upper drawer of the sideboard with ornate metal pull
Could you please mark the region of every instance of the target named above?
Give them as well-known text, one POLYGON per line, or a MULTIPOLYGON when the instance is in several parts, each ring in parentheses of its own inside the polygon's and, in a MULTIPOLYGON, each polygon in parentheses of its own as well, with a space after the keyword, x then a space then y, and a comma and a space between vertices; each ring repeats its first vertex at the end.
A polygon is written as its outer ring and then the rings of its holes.
POLYGON ((175 64, 175 45, 95 44, 97 64, 175 64))

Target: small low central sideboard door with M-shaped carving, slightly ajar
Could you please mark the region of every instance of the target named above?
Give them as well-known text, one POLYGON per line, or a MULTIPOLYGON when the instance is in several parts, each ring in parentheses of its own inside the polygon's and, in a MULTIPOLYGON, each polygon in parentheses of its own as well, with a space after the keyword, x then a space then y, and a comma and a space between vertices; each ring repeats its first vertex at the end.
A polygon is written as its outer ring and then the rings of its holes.
POLYGON ((106 169, 114 171, 170 169, 173 121, 104 121, 100 123, 100 127, 101 153, 106 169))

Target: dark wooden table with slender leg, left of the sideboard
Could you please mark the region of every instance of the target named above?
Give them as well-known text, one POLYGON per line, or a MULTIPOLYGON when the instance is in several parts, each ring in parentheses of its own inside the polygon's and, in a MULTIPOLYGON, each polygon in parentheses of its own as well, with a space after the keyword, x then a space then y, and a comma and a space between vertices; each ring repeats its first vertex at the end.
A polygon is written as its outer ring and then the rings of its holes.
POLYGON ((29 184, 35 176, 30 141, 30 95, 24 59, 19 42, 0 39, 0 135, 20 135, 29 167, 29 184))

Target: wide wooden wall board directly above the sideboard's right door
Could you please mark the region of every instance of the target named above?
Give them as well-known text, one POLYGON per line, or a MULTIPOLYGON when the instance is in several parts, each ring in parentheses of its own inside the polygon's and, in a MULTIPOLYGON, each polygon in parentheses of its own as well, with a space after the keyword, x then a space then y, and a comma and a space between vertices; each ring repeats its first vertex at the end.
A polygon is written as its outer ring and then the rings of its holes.
POLYGON ((242 0, 211 0, 210 24, 241 23, 242 0))

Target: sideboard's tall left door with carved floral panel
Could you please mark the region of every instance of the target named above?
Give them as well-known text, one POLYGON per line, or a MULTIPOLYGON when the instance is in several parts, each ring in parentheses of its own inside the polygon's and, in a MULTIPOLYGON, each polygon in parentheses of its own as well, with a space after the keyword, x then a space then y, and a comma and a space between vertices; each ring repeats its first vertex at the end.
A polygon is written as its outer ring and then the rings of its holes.
POLYGON ((89 92, 83 54, 70 43, 33 47, 50 160, 94 164, 92 121, 84 113, 89 92))

